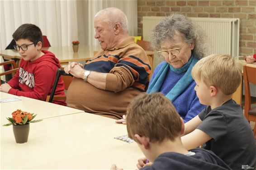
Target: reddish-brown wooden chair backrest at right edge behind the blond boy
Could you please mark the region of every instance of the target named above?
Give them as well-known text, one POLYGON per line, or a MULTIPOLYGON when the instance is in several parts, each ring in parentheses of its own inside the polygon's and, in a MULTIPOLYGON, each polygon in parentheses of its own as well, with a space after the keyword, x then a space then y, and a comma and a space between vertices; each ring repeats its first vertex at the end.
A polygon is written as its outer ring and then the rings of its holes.
POLYGON ((244 65, 243 66, 244 77, 244 90, 245 90, 245 117, 248 119, 248 111, 251 110, 251 92, 250 84, 256 85, 256 66, 244 65))

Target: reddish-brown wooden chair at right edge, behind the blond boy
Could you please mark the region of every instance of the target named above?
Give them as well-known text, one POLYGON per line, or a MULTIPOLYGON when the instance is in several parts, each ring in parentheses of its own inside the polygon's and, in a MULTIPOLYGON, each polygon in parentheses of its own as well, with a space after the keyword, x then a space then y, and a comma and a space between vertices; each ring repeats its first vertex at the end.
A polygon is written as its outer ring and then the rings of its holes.
MULTIPOLYGON (((244 89, 245 89, 245 109, 244 115, 246 119, 256 122, 256 107, 251 109, 251 92, 250 84, 256 85, 256 67, 244 65, 243 66, 243 77, 244 77, 244 89)), ((253 129, 254 136, 256 138, 256 123, 253 129)))

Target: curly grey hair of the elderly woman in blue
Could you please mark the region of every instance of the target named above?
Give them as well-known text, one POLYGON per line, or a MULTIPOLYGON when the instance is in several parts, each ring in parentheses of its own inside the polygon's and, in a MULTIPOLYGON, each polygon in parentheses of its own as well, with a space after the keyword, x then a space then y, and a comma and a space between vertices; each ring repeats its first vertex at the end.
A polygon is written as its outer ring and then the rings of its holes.
POLYGON ((184 34, 187 43, 194 42, 194 55, 199 58, 206 55, 209 45, 207 34, 183 14, 173 14, 161 20, 152 31, 152 47, 159 50, 162 42, 173 40, 176 31, 184 34))

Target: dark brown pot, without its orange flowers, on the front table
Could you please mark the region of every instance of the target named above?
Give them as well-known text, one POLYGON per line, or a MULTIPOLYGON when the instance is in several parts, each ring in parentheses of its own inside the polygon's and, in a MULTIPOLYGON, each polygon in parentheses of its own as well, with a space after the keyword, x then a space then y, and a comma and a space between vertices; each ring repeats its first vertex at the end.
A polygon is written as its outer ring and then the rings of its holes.
POLYGON ((13 133, 16 143, 28 142, 29 124, 13 125, 13 133))

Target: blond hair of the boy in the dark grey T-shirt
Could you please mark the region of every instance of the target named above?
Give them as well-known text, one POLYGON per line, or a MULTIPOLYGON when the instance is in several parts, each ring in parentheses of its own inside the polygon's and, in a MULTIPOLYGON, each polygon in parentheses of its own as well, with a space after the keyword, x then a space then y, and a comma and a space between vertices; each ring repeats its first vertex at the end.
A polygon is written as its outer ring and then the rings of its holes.
POLYGON ((218 87, 224 94, 230 95, 241 83, 242 63, 230 55, 209 55, 194 65, 192 77, 207 86, 218 87))

